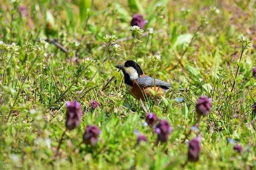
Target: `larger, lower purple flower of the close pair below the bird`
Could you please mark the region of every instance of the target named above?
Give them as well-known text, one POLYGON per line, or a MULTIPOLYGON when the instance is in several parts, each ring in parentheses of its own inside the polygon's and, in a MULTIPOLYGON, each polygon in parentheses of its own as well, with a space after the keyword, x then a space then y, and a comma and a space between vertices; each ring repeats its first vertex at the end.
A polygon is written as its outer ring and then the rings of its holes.
POLYGON ((158 135, 157 142, 166 142, 169 138, 169 134, 172 132, 172 127, 167 120, 161 120, 155 128, 158 135))

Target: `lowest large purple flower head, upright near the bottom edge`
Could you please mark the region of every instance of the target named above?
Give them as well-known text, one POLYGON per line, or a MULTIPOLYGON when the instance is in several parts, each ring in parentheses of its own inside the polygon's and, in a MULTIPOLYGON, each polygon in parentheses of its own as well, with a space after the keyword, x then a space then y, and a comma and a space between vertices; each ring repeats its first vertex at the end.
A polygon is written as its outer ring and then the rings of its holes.
POLYGON ((201 152, 201 143, 200 139, 195 137, 189 141, 188 144, 188 160, 189 161, 198 161, 199 155, 201 152))

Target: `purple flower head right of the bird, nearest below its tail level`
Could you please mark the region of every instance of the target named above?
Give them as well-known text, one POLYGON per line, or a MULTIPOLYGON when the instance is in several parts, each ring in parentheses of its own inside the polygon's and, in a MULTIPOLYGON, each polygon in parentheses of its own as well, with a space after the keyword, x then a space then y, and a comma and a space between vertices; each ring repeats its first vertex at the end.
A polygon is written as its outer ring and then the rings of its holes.
POLYGON ((196 112, 199 115, 208 115, 211 110, 211 98, 207 96, 201 96, 197 99, 196 112))

